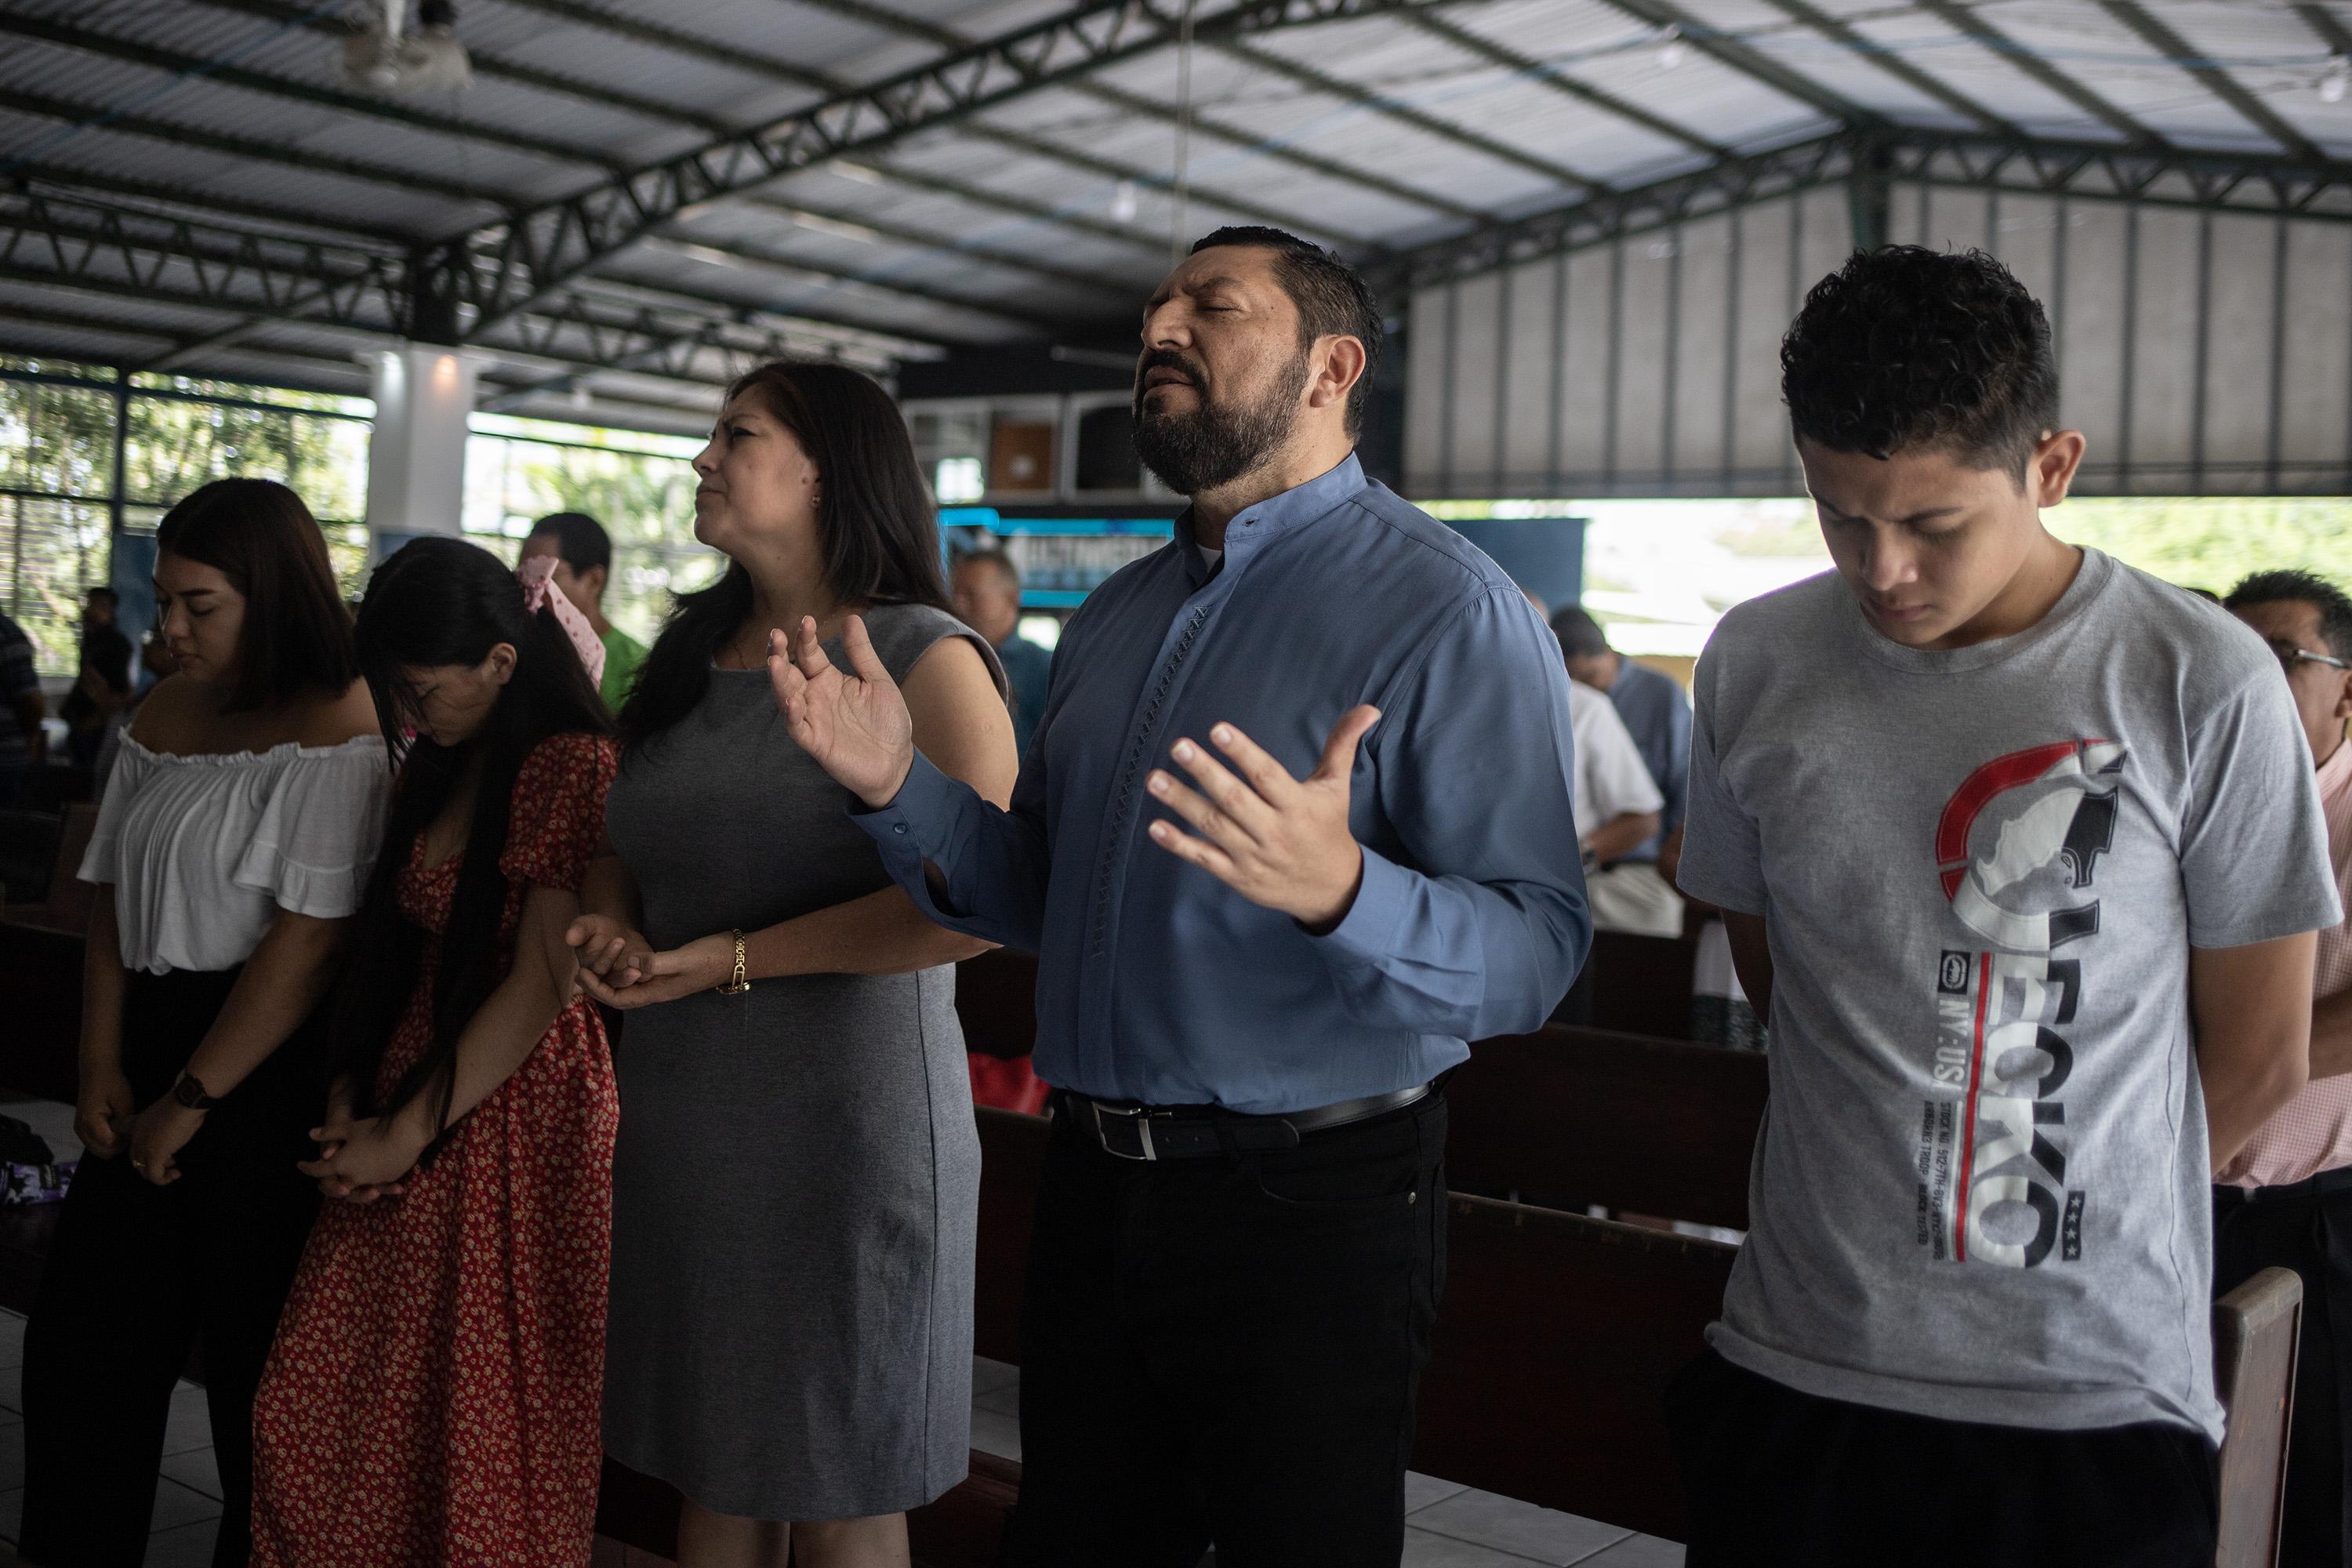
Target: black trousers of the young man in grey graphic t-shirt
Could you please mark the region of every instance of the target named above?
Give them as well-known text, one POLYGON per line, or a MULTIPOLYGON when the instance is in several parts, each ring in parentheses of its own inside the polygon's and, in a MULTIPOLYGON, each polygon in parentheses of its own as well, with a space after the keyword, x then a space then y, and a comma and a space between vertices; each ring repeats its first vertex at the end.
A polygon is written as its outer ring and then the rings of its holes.
POLYGON ((2039 1432, 1818 1399, 1712 1349, 1668 1389, 1684 1568, 2213 1568, 2220 1479, 2187 1427, 2039 1432))

